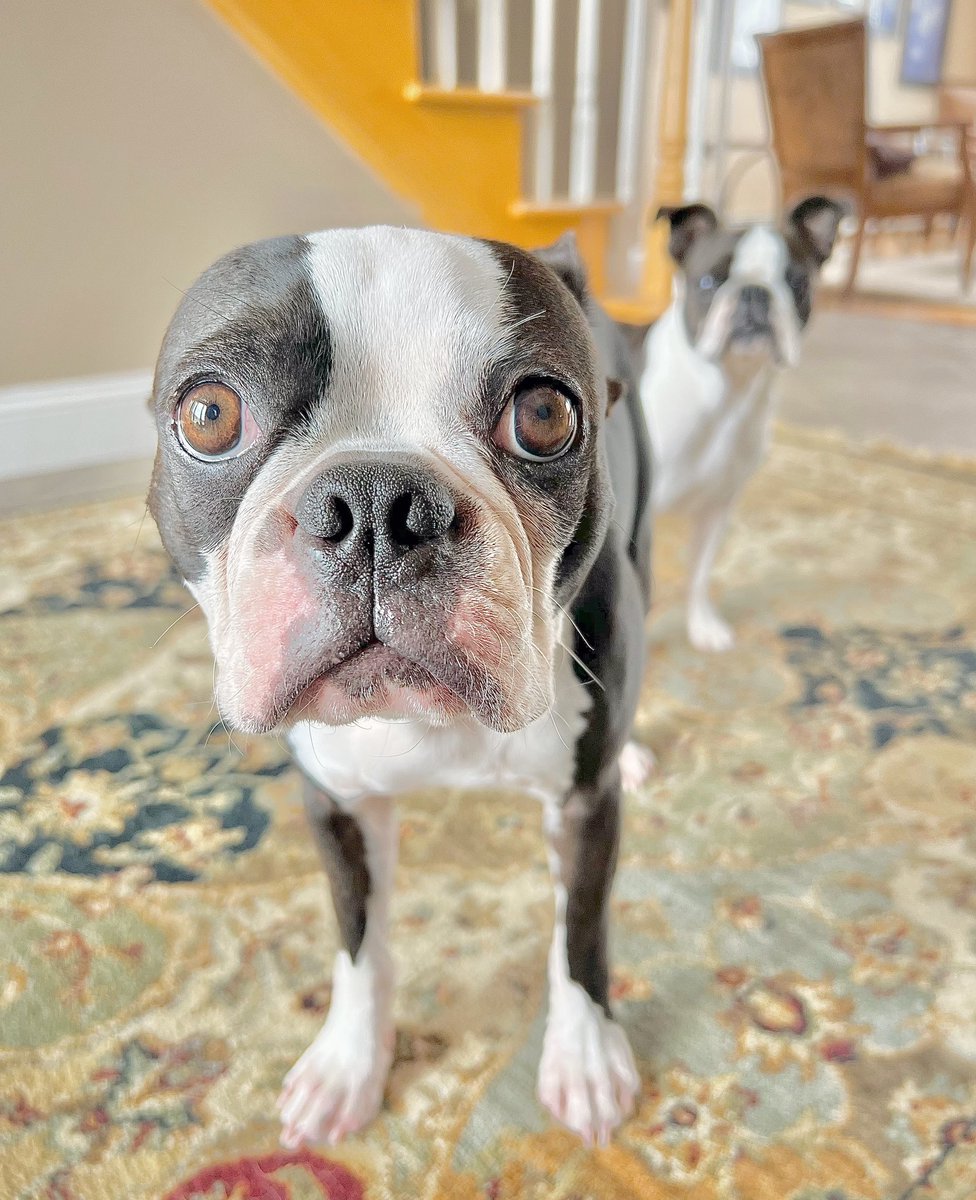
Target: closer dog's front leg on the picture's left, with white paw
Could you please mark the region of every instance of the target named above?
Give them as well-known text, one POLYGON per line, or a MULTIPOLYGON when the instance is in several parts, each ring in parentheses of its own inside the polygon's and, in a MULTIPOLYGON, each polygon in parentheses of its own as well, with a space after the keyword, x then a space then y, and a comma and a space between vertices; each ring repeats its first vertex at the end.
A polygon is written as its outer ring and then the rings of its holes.
POLYGON ((279 1108, 282 1144, 335 1144, 379 1111, 394 1050, 389 907, 396 865, 393 802, 340 808, 306 784, 305 804, 333 892, 343 948, 321 1032, 288 1073, 279 1108))

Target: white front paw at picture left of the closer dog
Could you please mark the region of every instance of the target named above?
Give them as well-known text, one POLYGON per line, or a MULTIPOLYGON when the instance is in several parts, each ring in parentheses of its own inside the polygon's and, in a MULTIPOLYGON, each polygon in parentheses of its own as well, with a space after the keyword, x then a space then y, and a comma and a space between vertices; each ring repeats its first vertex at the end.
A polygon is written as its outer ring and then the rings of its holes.
POLYGON ((282 1146, 333 1146, 377 1115, 393 1062, 394 1028, 357 1037, 360 1032, 327 1020, 285 1076, 277 1102, 282 1146))

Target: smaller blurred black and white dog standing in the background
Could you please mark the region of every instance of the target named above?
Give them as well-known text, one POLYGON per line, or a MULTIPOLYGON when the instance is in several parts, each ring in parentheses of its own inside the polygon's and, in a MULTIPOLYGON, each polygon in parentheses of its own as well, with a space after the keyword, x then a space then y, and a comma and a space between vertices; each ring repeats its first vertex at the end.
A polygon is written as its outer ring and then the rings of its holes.
POLYGON ((723 227, 705 204, 661 209, 679 268, 645 343, 640 390, 654 446, 655 512, 693 521, 688 637, 725 650, 732 631, 708 582, 732 508, 762 461, 779 366, 800 354, 813 288, 846 208, 802 200, 782 226, 723 227))

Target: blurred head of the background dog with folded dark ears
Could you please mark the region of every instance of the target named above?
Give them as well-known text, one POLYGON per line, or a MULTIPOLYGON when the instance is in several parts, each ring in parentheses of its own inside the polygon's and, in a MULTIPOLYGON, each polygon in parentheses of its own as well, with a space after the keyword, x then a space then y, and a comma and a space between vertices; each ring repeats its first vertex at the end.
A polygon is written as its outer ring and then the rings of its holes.
POLYGON ((682 270, 691 344, 718 361, 727 354, 792 365, 810 317, 813 287, 830 257, 845 209, 822 196, 802 200, 782 227, 725 228, 705 204, 661 209, 669 248, 682 270))

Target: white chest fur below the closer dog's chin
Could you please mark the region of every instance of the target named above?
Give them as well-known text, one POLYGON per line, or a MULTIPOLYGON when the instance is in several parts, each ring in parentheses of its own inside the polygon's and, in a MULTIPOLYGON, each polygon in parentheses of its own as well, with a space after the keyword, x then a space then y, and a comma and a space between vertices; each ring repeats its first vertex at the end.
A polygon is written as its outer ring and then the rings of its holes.
POLYGON ((424 787, 515 788, 558 799, 573 782, 592 701, 569 655, 557 654, 553 706, 517 733, 496 733, 473 720, 447 727, 370 720, 339 728, 305 721, 288 742, 301 769, 348 804, 424 787))

